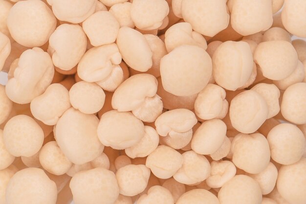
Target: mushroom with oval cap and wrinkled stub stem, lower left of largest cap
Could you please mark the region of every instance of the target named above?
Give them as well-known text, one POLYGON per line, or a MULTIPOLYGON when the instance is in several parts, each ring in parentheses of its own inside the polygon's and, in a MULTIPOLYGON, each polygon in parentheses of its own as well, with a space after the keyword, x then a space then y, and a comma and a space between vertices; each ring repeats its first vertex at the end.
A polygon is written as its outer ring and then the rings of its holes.
POLYGON ((136 74, 124 81, 114 92, 112 108, 132 111, 139 119, 153 122, 162 112, 162 101, 156 95, 157 80, 151 74, 136 74))

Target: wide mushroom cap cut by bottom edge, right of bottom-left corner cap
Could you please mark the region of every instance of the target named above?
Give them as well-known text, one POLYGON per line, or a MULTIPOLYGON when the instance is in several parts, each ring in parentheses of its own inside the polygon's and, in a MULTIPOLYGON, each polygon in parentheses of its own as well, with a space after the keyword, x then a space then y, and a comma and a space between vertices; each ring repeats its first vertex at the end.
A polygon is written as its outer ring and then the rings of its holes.
POLYGON ((115 174, 102 167, 76 173, 69 186, 77 204, 113 204, 119 196, 115 174))

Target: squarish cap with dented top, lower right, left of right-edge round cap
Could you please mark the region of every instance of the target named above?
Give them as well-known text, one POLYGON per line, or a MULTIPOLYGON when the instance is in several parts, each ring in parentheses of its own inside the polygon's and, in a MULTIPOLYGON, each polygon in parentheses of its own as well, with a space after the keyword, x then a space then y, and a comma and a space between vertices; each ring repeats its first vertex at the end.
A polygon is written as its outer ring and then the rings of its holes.
POLYGON ((267 139, 260 133, 238 134, 232 141, 233 163, 250 174, 262 172, 270 161, 267 139))

